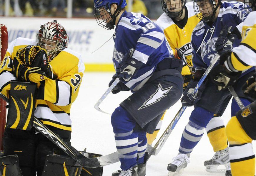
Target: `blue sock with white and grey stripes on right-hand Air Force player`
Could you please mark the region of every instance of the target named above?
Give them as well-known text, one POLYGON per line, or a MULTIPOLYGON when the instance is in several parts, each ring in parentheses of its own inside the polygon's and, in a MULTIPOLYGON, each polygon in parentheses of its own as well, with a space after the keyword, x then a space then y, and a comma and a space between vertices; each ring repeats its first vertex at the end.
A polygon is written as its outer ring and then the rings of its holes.
POLYGON ((195 107, 189 117, 189 122, 182 133, 179 146, 180 153, 187 154, 192 152, 202 138, 205 127, 212 117, 212 112, 199 106, 195 107))

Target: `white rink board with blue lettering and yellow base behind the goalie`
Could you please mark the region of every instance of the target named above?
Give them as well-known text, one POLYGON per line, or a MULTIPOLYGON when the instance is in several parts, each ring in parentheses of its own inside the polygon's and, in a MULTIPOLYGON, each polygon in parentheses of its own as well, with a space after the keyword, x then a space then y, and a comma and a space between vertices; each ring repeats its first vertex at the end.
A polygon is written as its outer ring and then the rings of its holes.
POLYGON ((100 27, 94 18, 0 17, 0 23, 8 29, 8 43, 18 37, 36 39, 40 26, 53 20, 57 20, 66 29, 69 35, 68 48, 82 54, 86 71, 114 71, 114 41, 109 40, 114 30, 108 31, 100 27), (107 40, 109 41, 104 44, 107 40), (97 50, 101 45, 103 46, 97 50), (97 51, 92 53, 94 50, 97 51))

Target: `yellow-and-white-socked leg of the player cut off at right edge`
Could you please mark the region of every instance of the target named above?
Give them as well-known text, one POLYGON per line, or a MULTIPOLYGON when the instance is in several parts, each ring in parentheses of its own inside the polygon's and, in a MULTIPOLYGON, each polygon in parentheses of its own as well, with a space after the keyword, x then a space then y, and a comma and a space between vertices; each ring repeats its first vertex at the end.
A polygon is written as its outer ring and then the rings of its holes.
POLYGON ((252 140, 256 139, 255 111, 256 102, 253 102, 238 111, 227 124, 232 176, 255 174, 255 155, 252 150, 252 140))

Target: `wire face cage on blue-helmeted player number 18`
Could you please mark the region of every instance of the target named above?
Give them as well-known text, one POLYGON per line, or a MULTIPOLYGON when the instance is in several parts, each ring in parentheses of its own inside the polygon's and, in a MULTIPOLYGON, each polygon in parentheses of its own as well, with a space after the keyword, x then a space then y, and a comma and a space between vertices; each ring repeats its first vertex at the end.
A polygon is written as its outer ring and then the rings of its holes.
POLYGON ((107 30, 114 29, 114 22, 108 4, 100 8, 94 8, 94 17, 99 26, 107 30))

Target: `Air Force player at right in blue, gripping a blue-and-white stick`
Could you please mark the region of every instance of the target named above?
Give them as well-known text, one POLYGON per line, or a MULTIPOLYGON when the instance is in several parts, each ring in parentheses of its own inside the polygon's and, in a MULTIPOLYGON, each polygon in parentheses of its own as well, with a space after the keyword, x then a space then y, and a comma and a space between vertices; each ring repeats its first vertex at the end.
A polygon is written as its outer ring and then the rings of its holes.
MULTIPOLYGON (((200 86, 197 95, 193 95, 191 92, 210 63, 219 57, 215 43, 218 36, 225 33, 225 31, 221 31, 222 27, 224 25, 231 26, 231 31, 234 31, 236 26, 244 21, 250 12, 250 9, 247 9, 247 6, 241 2, 222 3, 219 0, 195 0, 193 6, 196 16, 201 19, 192 32, 191 40, 192 62, 196 72, 194 80, 189 83, 183 94, 182 105, 195 105, 195 109, 192 111, 182 134, 179 153, 174 161, 168 165, 171 174, 176 174, 187 166, 189 155, 202 138, 204 129, 212 119, 213 114, 222 115, 230 101, 230 92, 228 90, 217 91, 215 85, 210 81, 206 81, 200 86)), ((233 40, 235 39, 233 38, 233 40)), ((237 46, 239 42, 240 40, 235 40, 233 46, 237 46)), ((234 85, 237 94, 245 105, 250 104, 252 99, 241 91, 241 85, 252 74, 252 70, 247 70, 234 85)), ((232 100, 232 114, 238 110, 239 106, 232 100)), ((221 153, 219 153, 220 155, 221 153)), ((228 160, 228 156, 217 159, 218 162, 221 160, 228 160)), ((226 172, 226 175, 230 174, 230 172, 226 172)))

